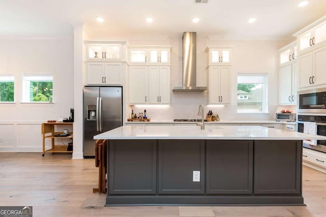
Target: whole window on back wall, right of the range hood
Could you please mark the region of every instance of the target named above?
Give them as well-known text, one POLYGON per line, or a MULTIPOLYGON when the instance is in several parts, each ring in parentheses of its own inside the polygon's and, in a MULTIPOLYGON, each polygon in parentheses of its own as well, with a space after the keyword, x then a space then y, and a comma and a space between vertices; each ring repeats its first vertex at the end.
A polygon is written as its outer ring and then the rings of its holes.
POLYGON ((237 112, 267 112, 267 74, 238 74, 237 112))

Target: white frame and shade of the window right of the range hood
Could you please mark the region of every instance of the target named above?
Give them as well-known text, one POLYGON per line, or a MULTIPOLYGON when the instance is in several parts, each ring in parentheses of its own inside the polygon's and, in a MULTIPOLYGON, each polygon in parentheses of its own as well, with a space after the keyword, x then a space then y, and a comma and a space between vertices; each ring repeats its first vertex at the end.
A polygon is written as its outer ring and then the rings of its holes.
MULTIPOLYGON (((254 109, 243 111, 237 108, 237 113, 268 113, 268 74, 267 73, 238 73, 236 86, 238 86, 238 83, 248 83, 248 84, 262 83, 263 88, 262 88, 262 111, 255 111, 254 109)), ((248 99, 249 98, 241 99, 241 100, 244 101, 248 99)))

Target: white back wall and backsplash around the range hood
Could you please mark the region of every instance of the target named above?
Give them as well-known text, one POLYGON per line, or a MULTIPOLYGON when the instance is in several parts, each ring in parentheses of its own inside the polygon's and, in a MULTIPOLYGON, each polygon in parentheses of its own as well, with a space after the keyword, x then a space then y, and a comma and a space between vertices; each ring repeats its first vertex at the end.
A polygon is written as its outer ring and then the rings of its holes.
MULTIPOLYGON (((147 45, 146 41, 130 41, 130 45, 147 45)), ((182 85, 182 48, 180 38, 167 41, 150 41, 153 45, 172 45, 171 53, 171 89, 182 85)), ((224 107, 208 107, 208 91, 172 92, 169 107, 131 106, 134 112, 147 110, 152 120, 172 120, 175 118, 197 118, 198 105, 203 104, 205 111, 218 112, 223 120, 273 120, 278 108, 278 49, 286 44, 284 41, 210 41, 206 37, 197 38, 197 85, 207 86, 207 46, 233 46, 231 67, 231 104, 224 107), (268 74, 268 111, 267 114, 237 114, 237 73, 253 72, 268 74)), ((131 112, 131 110, 130 110, 131 112)), ((129 112, 129 113, 130 113, 129 112)), ((127 115, 130 115, 127 113, 127 115)))

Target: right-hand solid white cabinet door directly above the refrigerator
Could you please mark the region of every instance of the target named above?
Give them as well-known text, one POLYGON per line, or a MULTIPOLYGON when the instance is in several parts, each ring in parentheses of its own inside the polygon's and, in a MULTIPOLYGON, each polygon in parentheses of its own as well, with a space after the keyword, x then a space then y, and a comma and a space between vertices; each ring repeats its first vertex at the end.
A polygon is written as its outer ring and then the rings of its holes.
POLYGON ((121 63, 105 63, 104 82, 106 84, 121 85, 122 71, 121 63))

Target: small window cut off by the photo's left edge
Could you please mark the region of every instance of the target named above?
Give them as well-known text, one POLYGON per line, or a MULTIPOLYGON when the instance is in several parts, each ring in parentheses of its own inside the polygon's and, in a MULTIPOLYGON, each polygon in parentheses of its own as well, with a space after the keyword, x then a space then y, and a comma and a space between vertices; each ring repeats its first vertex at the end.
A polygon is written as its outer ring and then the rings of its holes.
POLYGON ((0 102, 14 102, 14 76, 0 75, 0 102))

